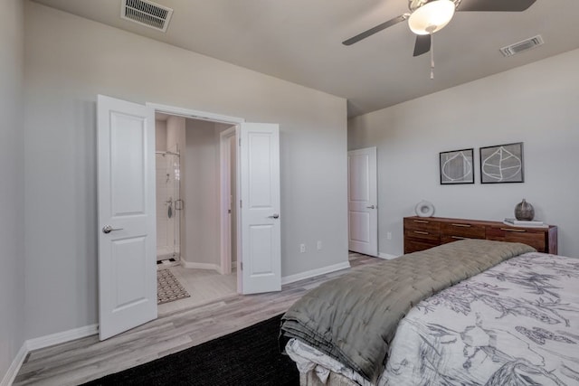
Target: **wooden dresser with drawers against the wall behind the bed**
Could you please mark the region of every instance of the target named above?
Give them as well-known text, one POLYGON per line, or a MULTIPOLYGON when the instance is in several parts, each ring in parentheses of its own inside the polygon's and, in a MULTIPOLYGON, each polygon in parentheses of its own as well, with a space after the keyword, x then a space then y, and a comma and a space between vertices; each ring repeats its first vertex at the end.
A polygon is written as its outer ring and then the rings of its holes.
POLYGON ((501 221, 404 217, 404 253, 462 239, 522 242, 539 252, 557 254, 557 227, 513 227, 501 221))

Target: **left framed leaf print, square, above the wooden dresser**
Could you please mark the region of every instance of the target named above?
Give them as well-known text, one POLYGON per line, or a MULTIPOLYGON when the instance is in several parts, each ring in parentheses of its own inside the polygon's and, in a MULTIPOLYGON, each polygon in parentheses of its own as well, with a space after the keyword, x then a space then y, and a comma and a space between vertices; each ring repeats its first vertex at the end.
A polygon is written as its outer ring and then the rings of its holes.
POLYGON ((441 152, 441 185, 474 184, 474 148, 441 152))

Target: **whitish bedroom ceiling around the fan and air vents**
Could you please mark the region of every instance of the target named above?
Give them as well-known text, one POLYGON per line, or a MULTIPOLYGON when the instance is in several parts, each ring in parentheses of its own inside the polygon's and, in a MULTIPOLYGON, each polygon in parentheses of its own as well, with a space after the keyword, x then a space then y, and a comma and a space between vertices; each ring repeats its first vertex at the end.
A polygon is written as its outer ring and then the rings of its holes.
POLYGON ((434 35, 434 80, 430 55, 413 58, 406 23, 341 43, 408 12, 407 0, 157 0, 175 10, 166 33, 121 19, 121 0, 35 1, 346 98, 350 117, 579 48, 577 0, 455 14, 434 35), (544 45, 509 58, 498 51, 536 34, 544 45))

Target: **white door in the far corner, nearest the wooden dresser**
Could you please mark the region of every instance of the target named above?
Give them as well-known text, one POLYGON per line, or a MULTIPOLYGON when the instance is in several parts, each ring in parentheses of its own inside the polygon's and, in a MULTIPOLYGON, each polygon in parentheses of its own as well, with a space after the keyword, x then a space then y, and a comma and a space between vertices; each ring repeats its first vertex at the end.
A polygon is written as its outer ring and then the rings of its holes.
POLYGON ((376 148, 347 152, 348 249, 378 256, 376 148))

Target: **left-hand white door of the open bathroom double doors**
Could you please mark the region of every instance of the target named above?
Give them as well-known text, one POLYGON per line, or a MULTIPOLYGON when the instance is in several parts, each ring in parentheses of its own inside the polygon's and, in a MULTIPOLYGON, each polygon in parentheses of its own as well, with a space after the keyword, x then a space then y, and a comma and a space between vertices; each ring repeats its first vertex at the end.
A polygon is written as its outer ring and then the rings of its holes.
POLYGON ((157 317, 155 117, 99 95, 100 340, 157 317))

